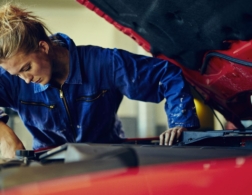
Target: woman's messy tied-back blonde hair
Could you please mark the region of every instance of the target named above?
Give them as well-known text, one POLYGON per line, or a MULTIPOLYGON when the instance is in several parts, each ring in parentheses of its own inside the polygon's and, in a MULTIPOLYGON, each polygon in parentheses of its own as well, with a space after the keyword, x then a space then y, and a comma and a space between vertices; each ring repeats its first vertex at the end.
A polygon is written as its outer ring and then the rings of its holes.
POLYGON ((29 54, 39 41, 50 43, 50 30, 32 12, 7 3, 0 8, 0 61, 18 52, 29 54))

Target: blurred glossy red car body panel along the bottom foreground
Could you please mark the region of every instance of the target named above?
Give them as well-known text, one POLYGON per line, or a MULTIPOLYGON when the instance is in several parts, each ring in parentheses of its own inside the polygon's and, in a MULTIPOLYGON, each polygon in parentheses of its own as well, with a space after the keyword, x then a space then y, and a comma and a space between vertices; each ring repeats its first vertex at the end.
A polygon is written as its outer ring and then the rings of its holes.
POLYGON ((251 172, 251 157, 204 160, 76 174, 6 189, 3 194, 251 194, 251 172))

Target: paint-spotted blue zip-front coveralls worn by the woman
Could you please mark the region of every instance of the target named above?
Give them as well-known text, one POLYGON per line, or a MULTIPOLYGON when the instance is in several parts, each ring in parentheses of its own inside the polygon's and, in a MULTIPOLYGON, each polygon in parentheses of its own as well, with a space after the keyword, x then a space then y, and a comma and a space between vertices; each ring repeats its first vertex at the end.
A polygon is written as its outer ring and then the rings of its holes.
MULTIPOLYGON (((155 103, 166 98, 170 128, 199 127, 193 98, 177 66, 120 49, 76 46, 62 33, 55 36, 70 54, 70 72, 61 89, 26 84, 1 70, 0 106, 17 111, 34 138, 34 149, 120 141, 117 110, 124 95, 155 103)), ((0 117, 6 117, 2 111, 0 117)))

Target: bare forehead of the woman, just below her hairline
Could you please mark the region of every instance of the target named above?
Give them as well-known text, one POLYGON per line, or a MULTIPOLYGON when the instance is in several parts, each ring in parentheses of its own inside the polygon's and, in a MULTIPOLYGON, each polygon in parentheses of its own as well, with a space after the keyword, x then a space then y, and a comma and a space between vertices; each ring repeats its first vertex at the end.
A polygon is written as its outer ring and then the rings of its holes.
POLYGON ((11 58, 2 60, 0 66, 10 74, 16 74, 21 67, 28 62, 29 58, 23 53, 17 53, 11 58))

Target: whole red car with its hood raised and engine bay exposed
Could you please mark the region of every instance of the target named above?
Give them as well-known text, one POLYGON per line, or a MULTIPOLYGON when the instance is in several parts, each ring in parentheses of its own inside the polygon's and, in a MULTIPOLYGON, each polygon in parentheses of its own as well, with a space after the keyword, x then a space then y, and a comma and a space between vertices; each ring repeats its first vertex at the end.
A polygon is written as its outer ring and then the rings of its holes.
POLYGON ((78 0, 154 56, 181 67, 205 103, 238 130, 18 151, 0 189, 18 194, 252 194, 252 1, 78 0))

